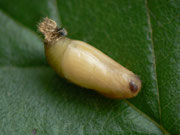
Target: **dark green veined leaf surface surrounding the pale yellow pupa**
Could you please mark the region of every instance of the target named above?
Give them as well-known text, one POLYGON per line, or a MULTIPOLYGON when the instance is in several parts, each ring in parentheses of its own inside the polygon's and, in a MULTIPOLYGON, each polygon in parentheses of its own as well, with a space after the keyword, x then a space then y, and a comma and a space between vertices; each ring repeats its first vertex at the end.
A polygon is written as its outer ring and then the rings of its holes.
POLYGON ((1 0, 2 135, 180 134, 180 2, 1 0), (60 78, 37 23, 48 16, 138 74, 140 94, 112 100, 60 78))

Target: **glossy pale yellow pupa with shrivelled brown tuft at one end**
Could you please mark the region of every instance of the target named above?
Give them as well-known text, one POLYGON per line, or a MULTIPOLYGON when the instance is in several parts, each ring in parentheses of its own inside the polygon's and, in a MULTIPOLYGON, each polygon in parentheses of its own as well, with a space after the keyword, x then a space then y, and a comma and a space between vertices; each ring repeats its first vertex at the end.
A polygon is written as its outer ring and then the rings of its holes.
POLYGON ((67 80, 110 98, 131 98, 141 89, 140 79, 95 47, 66 37, 55 21, 44 18, 38 25, 45 36, 48 63, 67 80))

